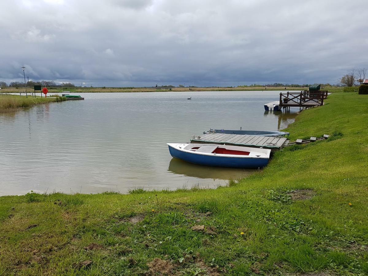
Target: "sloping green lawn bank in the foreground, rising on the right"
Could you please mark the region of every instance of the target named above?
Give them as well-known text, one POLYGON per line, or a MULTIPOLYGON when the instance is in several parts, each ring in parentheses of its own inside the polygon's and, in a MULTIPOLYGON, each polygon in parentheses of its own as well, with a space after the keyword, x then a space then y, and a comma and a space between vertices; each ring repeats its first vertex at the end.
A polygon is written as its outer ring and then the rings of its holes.
POLYGON ((1 197, 0 275, 366 275, 367 121, 330 95, 287 131, 332 138, 216 190, 1 197))

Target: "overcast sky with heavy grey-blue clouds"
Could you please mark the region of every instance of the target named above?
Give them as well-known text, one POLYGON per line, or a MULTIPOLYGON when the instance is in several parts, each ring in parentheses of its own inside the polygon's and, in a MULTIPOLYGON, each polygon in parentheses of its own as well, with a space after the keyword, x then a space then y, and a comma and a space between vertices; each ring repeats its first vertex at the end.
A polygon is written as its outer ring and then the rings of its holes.
POLYGON ((367 0, 1 0, 0 81, 336 83, 368 67, 367 0))

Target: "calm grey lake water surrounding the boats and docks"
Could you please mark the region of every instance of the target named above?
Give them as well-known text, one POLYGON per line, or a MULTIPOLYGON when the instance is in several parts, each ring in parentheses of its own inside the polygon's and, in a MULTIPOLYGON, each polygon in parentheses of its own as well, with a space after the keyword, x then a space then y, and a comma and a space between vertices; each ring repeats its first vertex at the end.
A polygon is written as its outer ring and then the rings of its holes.
POLYGON ((279 93, 81 93, 85 100, 0 114, 0 195, 224 185, 252 170, 172 159, 166 142, 209 128, 285 128, 295 113, 263 108, 279 93))

